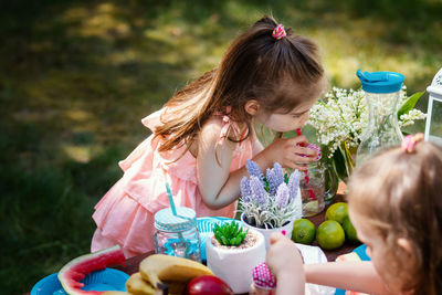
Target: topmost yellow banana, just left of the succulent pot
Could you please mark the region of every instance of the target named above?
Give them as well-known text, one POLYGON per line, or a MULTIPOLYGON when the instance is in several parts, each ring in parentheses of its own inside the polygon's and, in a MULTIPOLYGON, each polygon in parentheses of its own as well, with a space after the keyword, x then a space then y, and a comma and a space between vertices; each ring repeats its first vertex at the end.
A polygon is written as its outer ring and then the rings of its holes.
POLYGON ((168 281, 187 283, 200 275, 214 275, 201 263, 165 254, 146 257, 139 264, 139 272, 141 277, 152 286, 168 281))

